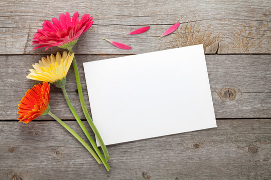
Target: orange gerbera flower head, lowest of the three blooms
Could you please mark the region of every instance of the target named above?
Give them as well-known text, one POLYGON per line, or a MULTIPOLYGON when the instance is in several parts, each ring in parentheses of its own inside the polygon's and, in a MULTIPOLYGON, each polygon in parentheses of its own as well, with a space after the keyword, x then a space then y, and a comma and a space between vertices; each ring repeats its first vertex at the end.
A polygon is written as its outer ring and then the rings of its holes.
POLYGON ((50 110, 49 105, 50 84, 43 82, 28 89, 20 101, 17 112, 20 122, 28 123, 40 115, 46 115, 50 110))

